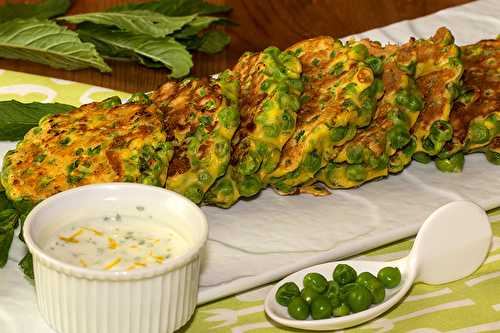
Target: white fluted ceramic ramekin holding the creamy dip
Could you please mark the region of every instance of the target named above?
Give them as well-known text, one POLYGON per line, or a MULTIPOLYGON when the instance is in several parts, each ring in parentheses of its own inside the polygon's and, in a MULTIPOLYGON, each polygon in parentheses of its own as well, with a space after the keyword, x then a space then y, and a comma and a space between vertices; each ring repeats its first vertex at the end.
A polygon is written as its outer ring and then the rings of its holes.
POLYGON ((194 312, 199 252, 207 233, 202 211, 162 188, 110 183, 56 194, 38 204, 24 224, 40 313, 60 333, 173 332, 194 312), (152 221, 166 223, 191 246, 184 255, 162 265, 126 272, 73 266, 42 250, 47 237, 66 224, 116 214, 146 214, 152 221))

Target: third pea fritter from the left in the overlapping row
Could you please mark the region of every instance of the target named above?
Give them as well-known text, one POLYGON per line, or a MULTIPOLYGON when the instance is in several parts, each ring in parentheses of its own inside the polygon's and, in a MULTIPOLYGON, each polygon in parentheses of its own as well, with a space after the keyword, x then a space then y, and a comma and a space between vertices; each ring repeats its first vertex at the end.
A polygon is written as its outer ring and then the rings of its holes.
POLYGON ((240 80, 241 126, 225 175, 205 196, 208 204, 224 208, 266 186, 266 175, 276 168, 283 145, 294 133, 303 90, 300 61, 275 47, 245 53, 233 71, 240 80))

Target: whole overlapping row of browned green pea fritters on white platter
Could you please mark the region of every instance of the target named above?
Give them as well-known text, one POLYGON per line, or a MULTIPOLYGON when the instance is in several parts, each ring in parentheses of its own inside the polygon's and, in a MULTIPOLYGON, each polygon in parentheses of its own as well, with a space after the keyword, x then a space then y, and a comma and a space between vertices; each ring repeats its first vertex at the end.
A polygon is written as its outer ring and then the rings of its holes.
POLYGON ((230 207, 268 186, 360 186, 412 159, 460 171, 464 153, 484 152, 500 164, 499 64, 499 40, 460 55, 445 28, 401 46, 321 36, 270 47, 150 98, 42 119, 6 155, 1 181, 15 201, 127 181, 230 207))

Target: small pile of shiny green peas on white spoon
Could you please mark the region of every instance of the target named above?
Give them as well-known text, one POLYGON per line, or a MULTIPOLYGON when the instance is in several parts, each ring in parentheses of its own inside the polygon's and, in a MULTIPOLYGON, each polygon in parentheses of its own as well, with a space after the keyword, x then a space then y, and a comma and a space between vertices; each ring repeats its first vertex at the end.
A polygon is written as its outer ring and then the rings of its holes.
POLYGON ((288 314, 297 320, 305 320, 309 315, 312 319, 347 316, 381 303, 385 288, 395 288, 401 282, 401 272, 397 267, 384 267, 377 277, 370 272, 358 275, 351 266, 338 264, 332 278, 327 281, 320 273, 308 273, 302 290, 294 282, 278 288, 276 302, 286 306, 288 314))

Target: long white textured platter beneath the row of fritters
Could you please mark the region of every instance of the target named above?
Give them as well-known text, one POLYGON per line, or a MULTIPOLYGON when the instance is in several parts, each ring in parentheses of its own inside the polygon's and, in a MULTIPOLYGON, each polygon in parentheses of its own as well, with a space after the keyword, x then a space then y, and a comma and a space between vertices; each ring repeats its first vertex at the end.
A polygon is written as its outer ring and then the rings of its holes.
MULTIPOLYGON (((482 0, 356 37, 404 42, 409 36, 429 37, 447 26, 457 44, 464 45, 495 38, 500 33, 499 18, 498 1, 482 0)), ((0 142, 0 156, 13 146, 0 142)), ((227 210, 203 207, 210 231, 199 303, 414 235, 434 209, 459 199, 484 209, 500 206, 500 167, 477 154, 467 156, 460 174, 413 163, 400 175, 355 190, 334 191, 328 197, 281 197, 266 190, 227 210)), ((0 331, 49 333, 38 315, 34 289, 17 268, 24 251, 16 239, 7 266, 0 270, 0 331)))

